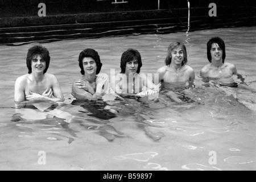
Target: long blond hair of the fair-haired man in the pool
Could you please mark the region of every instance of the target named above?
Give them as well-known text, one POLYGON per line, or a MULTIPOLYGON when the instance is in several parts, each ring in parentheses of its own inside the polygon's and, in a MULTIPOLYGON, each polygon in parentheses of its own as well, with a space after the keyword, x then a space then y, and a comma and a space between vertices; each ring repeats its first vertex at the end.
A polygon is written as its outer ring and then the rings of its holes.
POLYGON ((181 65, 185 65, 188 63, 188 56, 187 56, 187 49, 182 42, 172 42, 168 47, 167 56, 166 56, 166 65, 170 65, 172 62, 172 51, 176 48, 180 47, 181 50, 184 52, 184 60, 182 61, 181 65))

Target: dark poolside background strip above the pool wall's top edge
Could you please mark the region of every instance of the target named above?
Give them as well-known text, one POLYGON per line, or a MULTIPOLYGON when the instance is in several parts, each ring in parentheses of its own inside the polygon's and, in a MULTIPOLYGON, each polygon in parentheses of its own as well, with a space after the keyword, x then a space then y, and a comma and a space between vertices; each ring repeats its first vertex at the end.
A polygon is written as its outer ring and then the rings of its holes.
MULTIPOLYGON (((122 0, 118 0, 122 1, 122 0)), ((47 15, 102 13, 115 11, 157 10, 158 0, 125 0, 128 3, 112 4, 114 0, 1 0, 0 18, 16 16, 38 16, 38 4, 46 4, 47 15)), ((216 3, 217 7, 255 6, 255 1, 249 0, 190 0, 191 8, 208 7, 216 3)), ((160 9, 187 8, 187 0, 160 0, 160 9)))

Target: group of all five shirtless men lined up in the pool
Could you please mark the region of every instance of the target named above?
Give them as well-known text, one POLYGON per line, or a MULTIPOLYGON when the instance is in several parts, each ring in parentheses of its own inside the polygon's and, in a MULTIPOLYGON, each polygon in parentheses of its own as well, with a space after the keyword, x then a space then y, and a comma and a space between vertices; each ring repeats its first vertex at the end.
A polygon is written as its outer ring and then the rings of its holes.
MULTIPOLYGON (((209 64, 205 65, 200 76, 203 78, 225 78, 237 73, 234 64, 225 63, 225 43, 221 38, 214 37, 207 43, 207 57, 209 64)), ((183 43, 171 43, 168 48, 166 65, 159 68, 160 82, 193 82, 195 71, 187 64, 187 50, 183 43)), ((28 74, 17 78, 15 82, 15 107, 26 106, 28 102, 53 101, 63 102, 64 96, 57 78, 47 72, 50 56, 46 48, 34 46, 28 49, 28 74)), ((102 63, 98 52, 94 49, 85 49, 79 55, 81 78, 75 80, 72 94, 77 99, 98 100, 106 90, 108 79, 101 76, 102 63)), ((159 85, 140 73, 142 67, 141 55, 135 49, 128 49, 121 57, 121 73, 111 78, 111 88, 117 94, 137 94, 146 86, 144 95, 159 92, 159 85), (133 79, 129 79, 133 75, 133 79)))

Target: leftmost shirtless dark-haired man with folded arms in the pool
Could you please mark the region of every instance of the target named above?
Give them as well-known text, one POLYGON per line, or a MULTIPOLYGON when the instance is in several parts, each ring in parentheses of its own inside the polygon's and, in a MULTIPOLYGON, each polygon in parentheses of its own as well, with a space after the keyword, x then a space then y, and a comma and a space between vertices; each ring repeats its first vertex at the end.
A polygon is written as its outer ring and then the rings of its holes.
POLYGON ((49 51, 42 46, 28 49, 28 74, 20 76, 15 82, 14 101, 16 108, 26 106, 27 102, 63 102, 64 96, 57 78, 47 72, 49 51))

